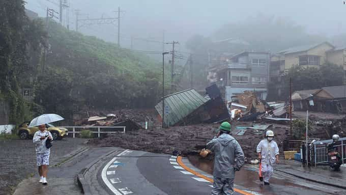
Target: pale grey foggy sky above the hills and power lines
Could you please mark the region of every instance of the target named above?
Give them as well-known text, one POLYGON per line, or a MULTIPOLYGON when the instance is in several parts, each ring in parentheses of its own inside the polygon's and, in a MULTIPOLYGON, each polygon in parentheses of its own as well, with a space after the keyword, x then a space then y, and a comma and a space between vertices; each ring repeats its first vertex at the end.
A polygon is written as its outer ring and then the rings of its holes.
MULTIPOLYGON (((59 0, 49 0, 59 2, 59 0)), ((47 0, 26 0, 26 8, 45 16, 47 6, 59 10, 47 0)), ((283 17, 306 27, 309 33, 326 36, 346 32, 344 23, 346 5, 342 0, 69 0, 71 29, 74 29, 73 10, 80 9, 90 18, 116 17, 120 6, 122 14, 121 34, 123 44, 129 45, 129 37, 141 37, 162 41, 184 42, 195 34, 210 36, 222 25, 239 22, 259 13, 283 17), (127 37, 127 38, 126 38, 127 37)), ((86 17, 82 15, 81 18, 86 17)), ((82 27, 81 32, 95 35, 107 41, 117 42, 117 26, 99 25, 82 27)), ((134 43, 135 44, 135 43, 134 43)), ((148 43, 155 44, 155 43, 148 43)), ((179 46, 178 46, 179 47, 179 46)), ((182 47, 182 46, 181 46, 182 47)))

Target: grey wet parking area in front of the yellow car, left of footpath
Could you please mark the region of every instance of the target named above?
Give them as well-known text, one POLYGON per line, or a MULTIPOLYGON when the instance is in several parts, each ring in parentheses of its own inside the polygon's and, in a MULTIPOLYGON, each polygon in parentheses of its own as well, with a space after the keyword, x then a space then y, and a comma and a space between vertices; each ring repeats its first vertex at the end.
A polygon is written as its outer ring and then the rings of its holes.
MULTIPOLYGON (((86 140, 64 138, 53 142, 50 165, 59 163, 65 155, 84 146, 86 140)), ((35 144, 32 140, 0 141, 0 194, 12 194, 20 181, 37 177, 35 144)), ((48 173, 49 175, 49 173, 48 173)))

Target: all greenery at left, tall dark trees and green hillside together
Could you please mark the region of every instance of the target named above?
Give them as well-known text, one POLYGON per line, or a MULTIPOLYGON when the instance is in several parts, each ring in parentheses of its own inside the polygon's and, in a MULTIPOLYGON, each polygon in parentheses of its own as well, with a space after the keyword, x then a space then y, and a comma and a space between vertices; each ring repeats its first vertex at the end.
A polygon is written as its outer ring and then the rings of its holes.
POLYGON ((1 1, 0 98, 10 104, 11 123, 43 112, 71 120, 81 109, 153 107, 158 101, 161 66, 146 55, 54 21, 47 34, 45 20, 30 20, 24 10, 21 0, 1 1), (22 88, 34 89, 34 102, 23 100, 22 88))

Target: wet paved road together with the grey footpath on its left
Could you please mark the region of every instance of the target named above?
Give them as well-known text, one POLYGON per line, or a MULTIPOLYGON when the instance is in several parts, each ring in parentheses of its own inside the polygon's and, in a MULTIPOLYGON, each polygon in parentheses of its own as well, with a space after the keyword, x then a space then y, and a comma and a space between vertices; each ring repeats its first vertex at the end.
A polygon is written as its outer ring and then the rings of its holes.
MULTIPOLYGON (((47 186, 34 177, 22 182, 14 194, 82 194, 75 176, 90 164, 84 177, 93 195, 207 195, 212 189, 212 176, 194 168, 186 158, 177 160, 171 155, 121 148, 90 148, 50 168, 47 186)), ((330 186, 276 174, 270 186, 263 186, 257 177, 251 167, 237 172, 235 194, 346 194, 330 186)))

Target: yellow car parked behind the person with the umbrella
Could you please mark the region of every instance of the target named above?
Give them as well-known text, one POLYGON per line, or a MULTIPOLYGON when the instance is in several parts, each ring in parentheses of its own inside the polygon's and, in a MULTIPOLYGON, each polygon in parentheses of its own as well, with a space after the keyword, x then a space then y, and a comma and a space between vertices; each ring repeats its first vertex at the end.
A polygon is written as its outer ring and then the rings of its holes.
MULTIPOLYGON (((34 136, 35 132, 39 130, 38 127, 28 127, 30 121, 26 121, 19 125, 18 135, 22 140, 34 136)), ((68 130, 63 127, 54 127, 52 124, 46 124, 47 130, 52 134, 53 140, 61 140, 68 135, 68 130)))

